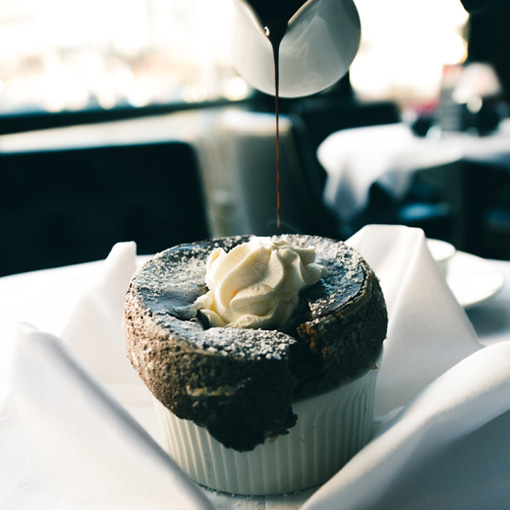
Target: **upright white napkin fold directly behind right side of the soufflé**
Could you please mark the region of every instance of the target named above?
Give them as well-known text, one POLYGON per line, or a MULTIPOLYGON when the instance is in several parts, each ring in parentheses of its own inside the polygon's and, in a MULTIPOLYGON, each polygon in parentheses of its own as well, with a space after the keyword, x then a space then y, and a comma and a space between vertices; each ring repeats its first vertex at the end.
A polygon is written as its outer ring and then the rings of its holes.
POLYGON ((369 225, 347 242, 379 277, 388 307, 375 400, 376 415, 386 414, 481 346, 421 229, 369 225))

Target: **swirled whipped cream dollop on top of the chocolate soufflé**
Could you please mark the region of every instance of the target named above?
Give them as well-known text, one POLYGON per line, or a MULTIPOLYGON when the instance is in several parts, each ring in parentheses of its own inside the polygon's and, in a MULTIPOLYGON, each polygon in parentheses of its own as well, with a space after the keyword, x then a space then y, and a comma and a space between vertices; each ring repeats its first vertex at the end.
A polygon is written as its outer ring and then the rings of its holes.
POLYGON ((283 325, 299 301, 299 291, 325 275, 315 263, 313 247, 292 246, 286 236, 276 241, 253 237, 225 252, 216 248, 207 259, 209 291, 194 308, 211 326, 274 328, 283 325))

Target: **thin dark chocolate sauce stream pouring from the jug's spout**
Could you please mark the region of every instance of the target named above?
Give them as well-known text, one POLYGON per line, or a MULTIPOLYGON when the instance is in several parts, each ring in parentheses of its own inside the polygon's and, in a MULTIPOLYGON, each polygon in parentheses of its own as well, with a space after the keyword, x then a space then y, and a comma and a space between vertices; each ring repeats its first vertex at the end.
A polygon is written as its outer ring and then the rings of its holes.
POLYGON ((273 48, 275 116, 276 116, 276 227, 280 228, 280 44, 287 31, 290 18, 306 3, 306 0, 251 0, 249 2, 259 15, 266 36, 273 48))

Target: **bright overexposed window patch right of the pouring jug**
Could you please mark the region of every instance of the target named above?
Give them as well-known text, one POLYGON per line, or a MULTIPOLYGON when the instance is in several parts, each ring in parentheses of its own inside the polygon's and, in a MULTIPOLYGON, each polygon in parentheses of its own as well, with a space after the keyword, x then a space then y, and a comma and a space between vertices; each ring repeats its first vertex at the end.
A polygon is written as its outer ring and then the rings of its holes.
POLYGON ((351 83, 368 100, 402 106, 437 98, 445 65, 467 56, 460 0, 355 0, 362 24, 351 83))

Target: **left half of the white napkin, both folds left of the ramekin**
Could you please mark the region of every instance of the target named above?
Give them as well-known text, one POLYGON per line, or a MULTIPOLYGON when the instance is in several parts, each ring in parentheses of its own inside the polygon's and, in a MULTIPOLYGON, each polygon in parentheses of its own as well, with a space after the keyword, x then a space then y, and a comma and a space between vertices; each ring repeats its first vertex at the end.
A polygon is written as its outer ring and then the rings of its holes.
POLYGON ((134 243, 114 246, 64 328, 67 345, 20 325, 0 409, 0 508, 211 508, 133 418, 152 410, 123 349, 135 257, 134 243))

